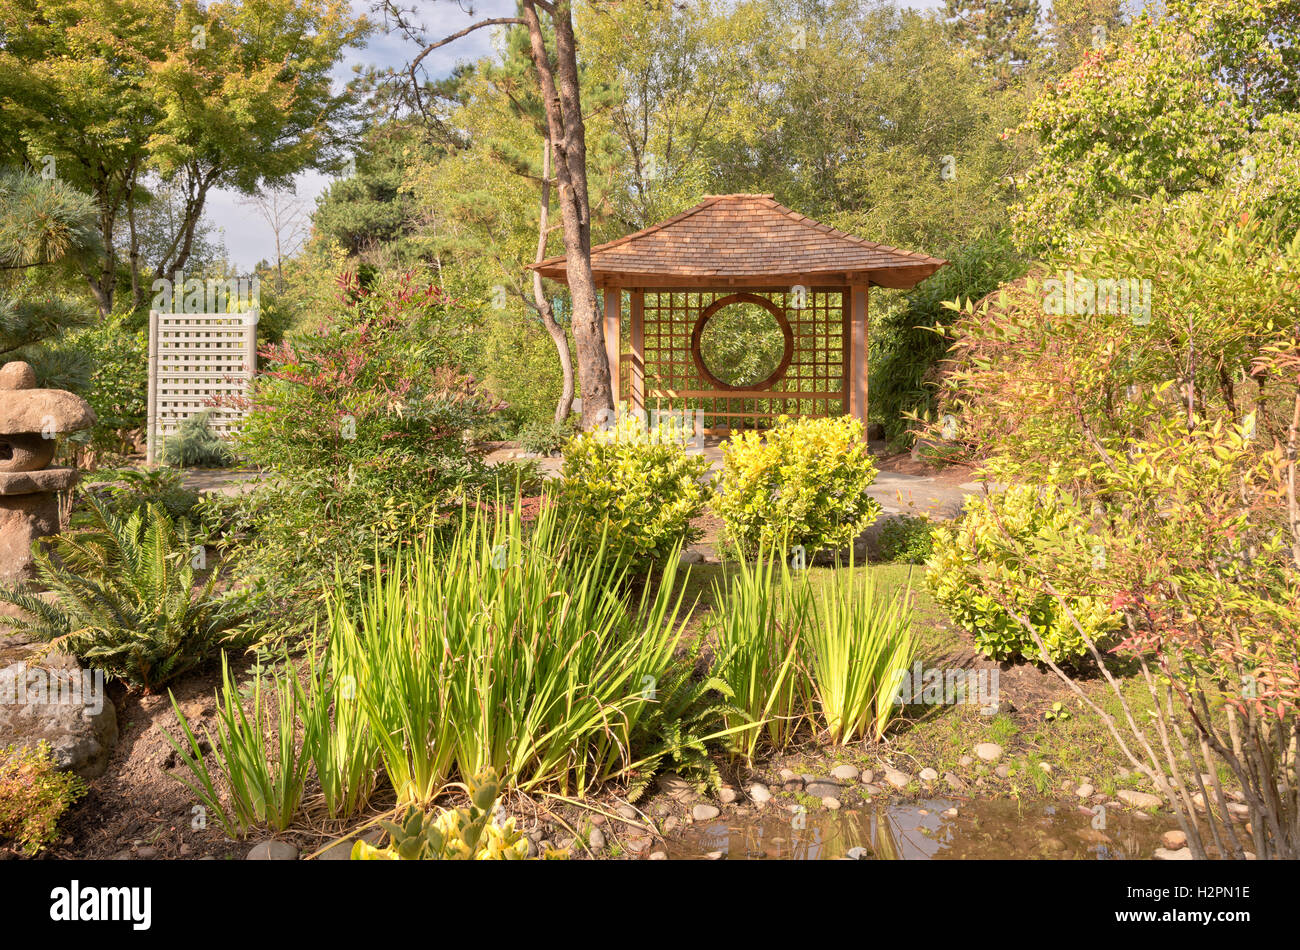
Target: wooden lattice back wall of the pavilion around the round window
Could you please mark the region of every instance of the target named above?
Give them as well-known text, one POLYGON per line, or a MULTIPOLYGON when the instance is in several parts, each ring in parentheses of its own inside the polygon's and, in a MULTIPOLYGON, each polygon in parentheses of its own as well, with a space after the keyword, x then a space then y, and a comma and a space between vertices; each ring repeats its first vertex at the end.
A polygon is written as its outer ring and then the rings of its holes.
MULTIPOLYGON (((793 347, 785 372, 763 390, 723 391, 703 378, 692 353, 701 315, 728 291, 646 291, 642 318, 647 409, 703 409, 710 433, 764 428, 777 416, 837 416, 848 411, 845 294, 807 290, 802 307, 790 291, 762 292, 785 316, 793 347)), ((630 361, 623 360, 630 370, 630 361)), ((620 392, 629 392, 630 372, 620 392)))

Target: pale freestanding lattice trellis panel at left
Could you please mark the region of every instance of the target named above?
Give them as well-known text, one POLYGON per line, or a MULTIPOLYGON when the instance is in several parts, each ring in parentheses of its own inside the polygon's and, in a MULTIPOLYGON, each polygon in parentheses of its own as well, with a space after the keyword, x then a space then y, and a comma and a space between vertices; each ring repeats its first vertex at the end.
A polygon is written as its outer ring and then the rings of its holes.
POLYGON ((208 424, 218 435, 237 431, 247 412, 239 398, 248 395, 256 372, 257 311, 151 311, 148 461, 161 439, 200 412, 212 411, 208 424))

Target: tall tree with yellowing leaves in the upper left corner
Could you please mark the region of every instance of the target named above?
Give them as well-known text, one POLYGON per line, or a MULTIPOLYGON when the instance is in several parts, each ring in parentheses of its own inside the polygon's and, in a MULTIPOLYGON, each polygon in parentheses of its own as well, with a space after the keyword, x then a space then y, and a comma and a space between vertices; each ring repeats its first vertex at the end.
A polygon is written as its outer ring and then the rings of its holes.
POLYGON ((94 195, 103 255, 84 277, 101 312, 127 231, 134 307, 185 268, 213 188, 254 194, 334 160, 351 117, 330 70, 368 26, 342 0, 0 0, 0 104, 22 157, 94 195), (147 175, 182 213, 143 260, 147 175))

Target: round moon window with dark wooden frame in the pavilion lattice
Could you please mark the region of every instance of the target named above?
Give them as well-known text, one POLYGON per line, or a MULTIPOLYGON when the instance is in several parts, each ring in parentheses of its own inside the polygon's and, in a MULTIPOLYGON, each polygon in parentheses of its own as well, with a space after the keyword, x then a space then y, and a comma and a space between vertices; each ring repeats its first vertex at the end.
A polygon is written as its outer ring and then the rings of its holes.
POLYGON ((718 389, 767 389, 785 373, 794 334, 785 315, 754 294, 732 294, 699 315, 690 350, 701 374, 718 389))

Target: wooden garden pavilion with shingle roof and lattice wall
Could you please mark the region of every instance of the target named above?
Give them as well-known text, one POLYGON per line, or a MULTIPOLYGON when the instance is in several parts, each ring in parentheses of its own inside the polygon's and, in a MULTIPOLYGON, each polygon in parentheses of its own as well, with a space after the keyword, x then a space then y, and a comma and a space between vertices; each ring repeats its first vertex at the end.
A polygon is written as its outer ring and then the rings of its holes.
MULTIPOLYGON (((944 264, 837 231, 771 195, 711 195, 592 248, 615 403, 702 409, 712 434, 780 415, 866 424, 870 289, 914 287, 944 264), (776 369, 740 386, 719 378, 701 348, 710 320, 733 304, 762 307, 784 337, 776 369)), ((567 282, 564 257, 533 266, 567 282)))

